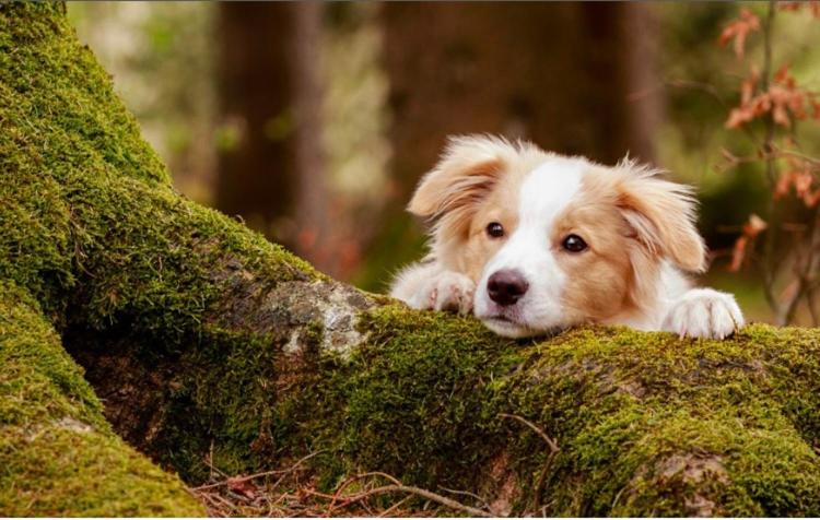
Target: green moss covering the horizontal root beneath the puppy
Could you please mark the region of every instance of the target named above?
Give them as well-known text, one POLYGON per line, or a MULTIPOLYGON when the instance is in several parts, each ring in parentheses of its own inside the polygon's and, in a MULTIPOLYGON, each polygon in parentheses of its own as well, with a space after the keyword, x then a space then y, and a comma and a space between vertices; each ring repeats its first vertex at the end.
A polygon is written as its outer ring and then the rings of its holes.
POLYGON ((305 427, 314 449, 335 453, 327 485, 383 470, 476 488, 507 453, 522 511, 548 450, 499 417, 514 413, 561 446, 543 491, 551 516, 820 511, 815 331, 754 326, 715 342, 594 328, 511 342, 401 307, 361 327, 368 341, 353 357, 328 362, 304 400, 279 410, 328 411, 305 427))

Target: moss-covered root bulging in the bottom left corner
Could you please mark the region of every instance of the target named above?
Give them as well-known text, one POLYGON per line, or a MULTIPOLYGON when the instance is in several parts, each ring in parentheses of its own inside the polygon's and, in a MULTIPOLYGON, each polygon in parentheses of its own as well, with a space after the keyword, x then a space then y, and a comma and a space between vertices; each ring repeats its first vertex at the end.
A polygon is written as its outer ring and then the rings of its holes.
POLYGON ((114 435, 38 305, 8 283, 0 366, 0 515, 202 515, 179 480, 114 435))

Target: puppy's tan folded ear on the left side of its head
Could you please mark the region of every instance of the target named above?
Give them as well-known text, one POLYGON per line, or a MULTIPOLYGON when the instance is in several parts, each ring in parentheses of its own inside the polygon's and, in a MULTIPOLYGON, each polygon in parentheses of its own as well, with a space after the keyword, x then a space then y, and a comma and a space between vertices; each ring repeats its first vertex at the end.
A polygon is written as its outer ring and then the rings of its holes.
POLYGON ((508 142, 496 138, 449 138, 438 164, 419 182, 408 211, 431 218, 469 220, 476 202, 495 186, 511 150, 508 142))

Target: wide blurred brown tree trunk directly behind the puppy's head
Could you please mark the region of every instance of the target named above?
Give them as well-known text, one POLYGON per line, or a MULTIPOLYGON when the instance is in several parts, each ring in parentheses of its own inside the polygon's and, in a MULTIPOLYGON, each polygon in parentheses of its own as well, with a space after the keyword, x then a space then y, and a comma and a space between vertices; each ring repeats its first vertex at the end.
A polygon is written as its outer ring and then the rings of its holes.
MULTIPOLYGON (((660 116, 646 38, 651 9, 626 3, 383 5, 394 149, 377 269, 418 255, 403 205, 448 134, 490 132, 612 163, 653 158, 660 116)), ((363 280, 371 279, 367 274, 363 280)))

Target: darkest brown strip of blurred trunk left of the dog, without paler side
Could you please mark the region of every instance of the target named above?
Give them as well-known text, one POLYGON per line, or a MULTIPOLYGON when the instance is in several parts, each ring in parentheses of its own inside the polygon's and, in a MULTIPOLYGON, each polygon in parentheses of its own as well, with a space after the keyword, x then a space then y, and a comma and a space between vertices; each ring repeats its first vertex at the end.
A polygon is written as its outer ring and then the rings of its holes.
POLYGON ((274 229, 292 214, 297 182, 288 54, 292 7, 224 2, 219 10, 223 129, 216 208, 291 246, 274 229))

